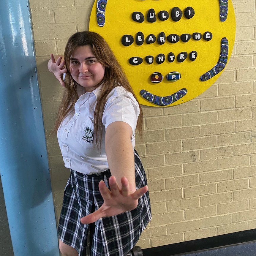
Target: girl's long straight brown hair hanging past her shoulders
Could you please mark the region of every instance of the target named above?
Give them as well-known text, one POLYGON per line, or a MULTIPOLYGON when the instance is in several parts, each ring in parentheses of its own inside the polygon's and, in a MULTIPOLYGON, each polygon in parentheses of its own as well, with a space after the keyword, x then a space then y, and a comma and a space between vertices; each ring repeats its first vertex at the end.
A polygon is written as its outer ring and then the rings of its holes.
MULTIPOLYGON (((95 32, 83 31, 76 32, 73 34, 67 42, 64 60, 67 66, 67 73, 65 77, 66 89, 61 101, 61 106, 59 108, 59 113, 57 116, 56 123, 53 128, 53 132, 57 132, 63 119, 74 110, 75 102, 78 100, 77 85, 78 83, 72 78, 70 74, 70 58, 73 51, 78 46, 91 45, 92 53, 98 59, 98 61, 105 66, 105 75, 100 83, 103 83, 100 94, 97 98, 97 104, 94 110, 94 138, 96 141, 96 147, 100 149, 102 142, 102 115, 104 107, 107 101, 107 96, 116 86, 123 86, 127 91, 133 94, 136 98, 132 87, 130 86, 126 75, 118 63, 113 51, 110 49, 109 45, 105 39, 95 32)), ((99 83, 99 84, 100 84, 99 83)), ((139 104, 139 102, 138 102, 139 104)), ((137 132, 139 135, 142 133, 142 121, 143 114, 140 107, 140 115, 137 122, 137 132)))

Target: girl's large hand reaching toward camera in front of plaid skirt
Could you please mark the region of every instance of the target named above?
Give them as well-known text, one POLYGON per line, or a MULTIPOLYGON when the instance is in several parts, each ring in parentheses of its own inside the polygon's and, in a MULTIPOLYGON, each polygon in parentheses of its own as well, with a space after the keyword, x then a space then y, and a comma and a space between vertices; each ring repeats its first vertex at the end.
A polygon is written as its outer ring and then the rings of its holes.
POLYGON ((121 189, 118 187, 115 176, 109 178, 111 191, 106 187, 104 181, 99 182, 99 191, 104 199, 100 208, 81 218, 83 224, 89 224, 102 217, 110 217, 135 209, 138 205, 138 199, 148 191, 148 186, 142 187, 135 192, 130 192, 127 178, 121 178, 121 189))

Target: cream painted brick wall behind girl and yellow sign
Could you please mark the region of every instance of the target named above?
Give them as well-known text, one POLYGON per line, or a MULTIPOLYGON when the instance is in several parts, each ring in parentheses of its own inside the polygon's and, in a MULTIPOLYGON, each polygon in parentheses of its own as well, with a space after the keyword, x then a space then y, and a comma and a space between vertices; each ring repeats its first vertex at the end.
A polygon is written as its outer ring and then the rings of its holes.
MULTIPOLYGON (((49 137, 63 88, 47 61, 50 53, 64 53, 71 34, 88 29, 93 2, 30 0, 57 218, 69 171, 56 137, 49 137)), ((178 106, 143 106, 136 148, 153 213, 138 243, 143 248, 256 228, 256 3, 232 2, 236 41, 217 82, 178 106)))

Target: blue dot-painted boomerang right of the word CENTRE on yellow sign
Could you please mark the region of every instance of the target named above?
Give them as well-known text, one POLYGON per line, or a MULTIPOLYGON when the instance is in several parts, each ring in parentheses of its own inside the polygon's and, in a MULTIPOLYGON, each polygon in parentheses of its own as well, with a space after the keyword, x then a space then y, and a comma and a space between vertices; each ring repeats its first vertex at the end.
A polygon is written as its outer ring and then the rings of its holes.
POLYGON ((200 76, 201 81, 207 81, 221 72, 227 65, 227 58, 228 58, 228 40, 226 37, 221 39, 221 50, 219 61, 217 64, 208 72, 200 76))

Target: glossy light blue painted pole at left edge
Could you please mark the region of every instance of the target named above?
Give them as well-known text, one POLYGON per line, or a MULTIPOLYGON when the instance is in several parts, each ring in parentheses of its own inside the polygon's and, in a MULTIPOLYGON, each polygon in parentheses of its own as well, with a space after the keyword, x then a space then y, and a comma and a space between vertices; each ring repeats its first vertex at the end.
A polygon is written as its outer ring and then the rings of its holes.
POLYGON ((0 174, 15 256, 59 255, 28 0, 1 0, 0 174))

